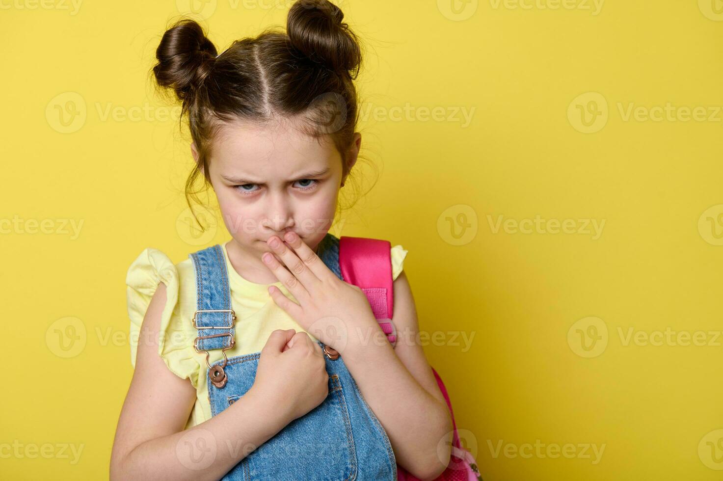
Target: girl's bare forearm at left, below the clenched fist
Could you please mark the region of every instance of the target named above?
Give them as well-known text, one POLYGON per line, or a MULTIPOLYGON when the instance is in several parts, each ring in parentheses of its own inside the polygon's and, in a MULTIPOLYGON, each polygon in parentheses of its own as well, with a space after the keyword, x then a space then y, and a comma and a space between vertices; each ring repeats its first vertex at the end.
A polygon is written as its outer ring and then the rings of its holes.
POLYGON ((111 480, 220 480, 289 422, 253 387, 210 420, 141 443, 111 467, 111 480))

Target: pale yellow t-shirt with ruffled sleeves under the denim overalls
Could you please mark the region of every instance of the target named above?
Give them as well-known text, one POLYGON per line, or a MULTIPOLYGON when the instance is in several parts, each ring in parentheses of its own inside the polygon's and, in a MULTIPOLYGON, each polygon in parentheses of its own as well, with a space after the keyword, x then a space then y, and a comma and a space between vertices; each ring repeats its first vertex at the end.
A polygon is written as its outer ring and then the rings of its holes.
MULTIPOLYGON (((236 312, 236 345, 226 350, 228 357, 260 352, 270 333, 275 329, 304 331, 286 312, 278 307, 268 293, 268 286, 274 285, 286 297, 294 300, 293 294, 281 282, 254 284, 236 272, 228 260, 226 243, 221 243, 223 257, 231 289, 231 306, 236 312)), ((407 251, 401 245, 391 248, 392 276, 396 279, 402 271, 407 251)), ((193 347, 198 331, 193 328, 193 313, 197 308, 196 276, 190 257, 178 264, 171 262, 163 252, 148 247, 133 261, 126 276, 128 315, 131 339, 131 364, 135 367, 137 339, 150 299, 158 283, 166 284, 166 306, 161 314, 161 333, 158 339, 158 354, 171 373, 188 378, 196 388, 196 402, 189 416, 186 429, 200 424, 211 417, 206 383, 205 353, 198 353, 193 347), (200 381, 200 382, 199 382, 200 381)), ((309 334, 312 339, 314 336, 309 334)), ((155 340, 153 340, 155 341, 155 340)), ((221 349, 209 352, 208 362, 223 359, 221 349)))

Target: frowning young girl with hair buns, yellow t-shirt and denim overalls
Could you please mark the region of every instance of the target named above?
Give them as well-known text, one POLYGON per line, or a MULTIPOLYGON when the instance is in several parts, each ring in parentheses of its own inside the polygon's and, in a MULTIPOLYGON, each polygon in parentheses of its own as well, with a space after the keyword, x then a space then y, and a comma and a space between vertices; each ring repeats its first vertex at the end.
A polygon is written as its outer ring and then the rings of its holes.
POLYGON ((153 73, 189 120, 187 194, 198 176, 213 187, 231 239, 175 265, 147 248, 130 265, 138 342, 111 479, 432 480, 448 465, 407 251, 390 251, 392 345, 328 233, 361 145, 361 54, 342 20, 299 0, 286 33, 218 55, 193 20, 163 35, 153 73))

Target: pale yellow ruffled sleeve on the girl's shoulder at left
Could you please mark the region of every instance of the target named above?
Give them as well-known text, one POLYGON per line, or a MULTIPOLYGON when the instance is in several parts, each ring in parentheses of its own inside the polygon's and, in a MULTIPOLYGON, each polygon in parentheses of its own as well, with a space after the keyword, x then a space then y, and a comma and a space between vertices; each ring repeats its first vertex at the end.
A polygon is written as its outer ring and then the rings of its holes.
POLYGON ((140 326, 159 282, 166 284, 166 306, 161 314, 158 355, 172 373, 191 379, 195 386, 198 365, 193 358, 192 339, 189 339, 193 333, 184 329, 179 315, 179 271, 168 256, 151 247, 133 261, 126 276, 131 365, 135 367, 140 326))

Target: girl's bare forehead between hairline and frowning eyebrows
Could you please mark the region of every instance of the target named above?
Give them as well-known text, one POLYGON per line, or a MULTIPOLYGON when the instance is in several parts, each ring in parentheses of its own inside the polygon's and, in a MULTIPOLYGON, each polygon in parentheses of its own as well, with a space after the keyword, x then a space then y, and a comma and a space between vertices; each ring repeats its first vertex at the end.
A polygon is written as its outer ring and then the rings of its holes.
POLYGON ((288 123, 265 125, 249 122, 224 124, 213 142, 213 161, 223 174, 241 171, 251 174, 284 175, 325 169, 340 163, 341 156, 328 137, 310 137, 288 123))

